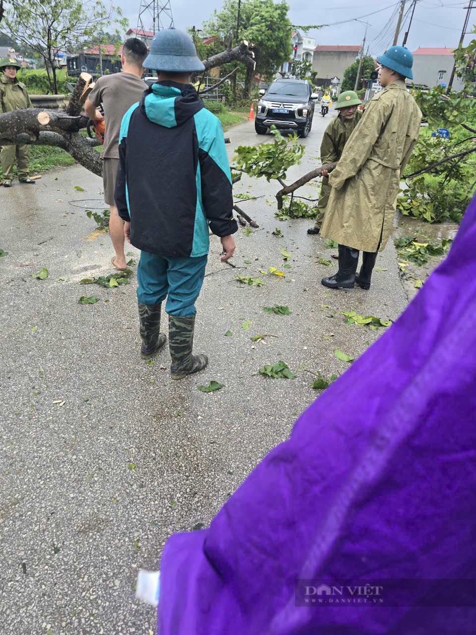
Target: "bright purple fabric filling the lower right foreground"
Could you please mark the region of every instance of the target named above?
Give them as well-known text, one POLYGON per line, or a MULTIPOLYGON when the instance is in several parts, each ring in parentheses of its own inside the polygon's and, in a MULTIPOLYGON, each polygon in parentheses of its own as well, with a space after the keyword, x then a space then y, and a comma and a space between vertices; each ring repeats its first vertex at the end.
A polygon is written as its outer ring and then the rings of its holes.
POLYGON ((169 538, 159 634, 475 633, 474 607, 305 608, 294 596, 300 578, 476 578, 475 377, 473 199, 398 321, 207 530, 169 538))

